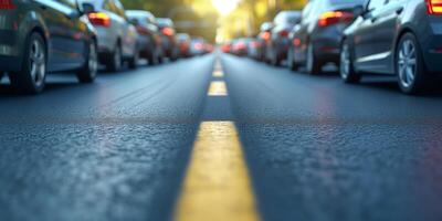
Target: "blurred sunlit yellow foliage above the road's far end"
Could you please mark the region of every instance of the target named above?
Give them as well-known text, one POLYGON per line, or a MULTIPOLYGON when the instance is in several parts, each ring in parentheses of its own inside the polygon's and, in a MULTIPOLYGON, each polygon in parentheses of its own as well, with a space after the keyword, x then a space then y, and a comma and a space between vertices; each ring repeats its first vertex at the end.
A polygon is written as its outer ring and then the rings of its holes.
POLYGON ((175 21, 178 32, 224 42, 254 36, 282 10, 302 9, 307 0, 122 0, 126 9, 145 9, 175 21))

